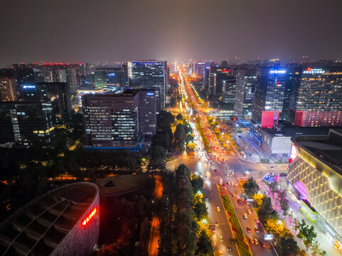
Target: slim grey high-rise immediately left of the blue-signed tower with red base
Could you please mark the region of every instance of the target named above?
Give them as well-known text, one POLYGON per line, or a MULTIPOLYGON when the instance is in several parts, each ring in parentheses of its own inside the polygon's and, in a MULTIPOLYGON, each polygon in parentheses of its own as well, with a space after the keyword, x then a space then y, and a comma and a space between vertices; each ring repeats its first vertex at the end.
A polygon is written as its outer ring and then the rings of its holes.
POLYGON ((234 112, 237 120, 244 126, 250 126, 255 87, 257 86, 257 70, 237 69, 234 112))

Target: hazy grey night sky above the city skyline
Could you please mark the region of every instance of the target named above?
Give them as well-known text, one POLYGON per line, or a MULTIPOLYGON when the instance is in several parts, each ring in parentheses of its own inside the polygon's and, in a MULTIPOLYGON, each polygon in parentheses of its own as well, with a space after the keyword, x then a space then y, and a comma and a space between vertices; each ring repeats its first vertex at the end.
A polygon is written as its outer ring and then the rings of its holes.
POLYGON ((342 59, 342 0, 0 0, 0 64, 342 59))

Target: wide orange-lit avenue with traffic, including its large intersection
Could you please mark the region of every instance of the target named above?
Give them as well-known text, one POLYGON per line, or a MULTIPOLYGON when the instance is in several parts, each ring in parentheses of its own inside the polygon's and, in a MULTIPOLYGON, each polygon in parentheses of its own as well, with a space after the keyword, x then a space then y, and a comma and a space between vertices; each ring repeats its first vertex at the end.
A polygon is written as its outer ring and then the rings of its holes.
POLYGON ((228 223, 223 202, 220 198, 219 188, 223 188, 223 186, 227 188, 230 200, 233 202, 237 218, 245 233, 252 254, 263 256, 277 255, 269 242, 265 241, 267 244, 266 247, 262 247, 260 244, 260 240, 264 240, 265 232, 259 220, 257 220, 252 206, 246 201, 237 203, 237 199, 243 193, 243 189, 238 180, 246 178, 246 171, 249 172, 248 176, 260 178, 262 174, 270 171, 269 168, 263 164, 253 164, 251 161, 245 161, 233 149, 225 151, 221 148, 218 139, 215 137, 208 123, 207 117, 210 111, 205 110, 204 107, 199 105, 198 99, 193 94, 193 89, 191 89, 191 86, 186 80, 186 76, 183 73, 180 73, 180 75, 180 90, 186 101, 185 104, 184 102, 179 102, 177 107, 170 110, 173 114, 181 113, 183 116, 188 117, 195 134, 196 150, 193 156, 188 156, 186 153, 176 156, 168 162, 167 167, 174 170, 179 164, 186 164, 193 173, 201 175, 205 180, 203 195, 208 197, 209 228, 212 230, 215 255, 240 255, 237 251, 236 243, 234 241, 234 243, 232 242, 233 234, 228 223), (196 117, 199 117, 201 120, 201 127, 203 127, 212 150, 211 154, 208 154, 204 149, 201 134, 198 131, 198 127, 196 127, 196 117), (222 186, 220 186, 220 183, 222 186), (251 243, 250 238, 253 238, 253 240, 256 239, 259 242, 258 245, 255 242, 251 243))

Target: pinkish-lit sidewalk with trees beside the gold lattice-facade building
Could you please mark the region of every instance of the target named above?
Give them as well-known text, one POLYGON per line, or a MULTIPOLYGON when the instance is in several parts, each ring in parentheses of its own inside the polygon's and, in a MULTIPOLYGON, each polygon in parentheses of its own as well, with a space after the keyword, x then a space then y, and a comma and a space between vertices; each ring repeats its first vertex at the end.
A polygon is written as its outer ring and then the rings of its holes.
MULTIPOLYGON (((292 218, 289 218, 289 216, 285 217, 284 215, 282 215, 282 208, 280 206, 280 203, 277 206, 278 193, 274 193, 273 198, 272 193, 271 195, 269 195, 269 187, 264 182, 261 181, 259 183, 259 186, 262 193, 271 198, 273 209, 278 212, 279 218, 281 218, 284 221, 285 225, 287 226, 287 228, 289 228, 290 233, 292 233, 292 235, 296 235, 296 233, 298 233, 298 230, 294 230, 294 218, 296 218, 296 220, 298 221, 304 220, 306 224, 308 224, 309 226, 314 226, 315 232, 317 233, 316 239, 317 241, 319 241, 319 247, 326 251, 327 256, 341 255, 341 253, 338 250, 336 250, 335 247, 333 247, 333 243, 330 240, 328 240, 326 235, 323 232, 321 232, 321 230, 317 227, 316 223, 311 223, 308 220, 308 218, 306 218, 306 216, 303 213, 301 213, 300 201, 290 191, 287 190, 287 182, 286 180, 284 180, 284 178, 280 180, 280 187, 282 188, 282 191, 284 191, 284 189, 286 189, 287 191, 287 195, 285 196, 285 198, 289 201, 289 208, 292 210, 292 218)), ((296 236, 294 237, 294 240, 296 240, 300 250, 306 251, 306 247, 304 246, 303 242, 296 238, 296 236)), ((311 255, 311 251, 306 251, 306 255, 311 255)))

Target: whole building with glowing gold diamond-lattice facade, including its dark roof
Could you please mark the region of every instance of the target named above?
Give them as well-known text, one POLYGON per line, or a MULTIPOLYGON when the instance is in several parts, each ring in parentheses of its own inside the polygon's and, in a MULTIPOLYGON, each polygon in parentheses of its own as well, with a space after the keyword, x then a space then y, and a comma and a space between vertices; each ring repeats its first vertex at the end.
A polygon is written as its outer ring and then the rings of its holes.
POLYGON ((287 174, 301 211, 342 252, 342 129, 292 138, 287 174))

